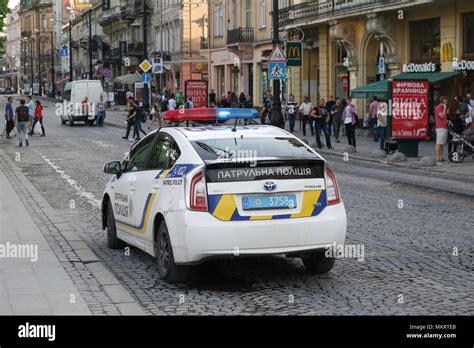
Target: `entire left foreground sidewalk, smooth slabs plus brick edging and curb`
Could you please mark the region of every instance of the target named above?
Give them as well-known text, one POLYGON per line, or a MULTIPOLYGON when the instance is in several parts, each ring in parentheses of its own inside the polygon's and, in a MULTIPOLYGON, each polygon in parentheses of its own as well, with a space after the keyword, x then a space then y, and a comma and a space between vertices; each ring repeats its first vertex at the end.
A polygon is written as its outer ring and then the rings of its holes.
POLYGON ((2 149, 0 196, 0 315, 146 314, 2 149))

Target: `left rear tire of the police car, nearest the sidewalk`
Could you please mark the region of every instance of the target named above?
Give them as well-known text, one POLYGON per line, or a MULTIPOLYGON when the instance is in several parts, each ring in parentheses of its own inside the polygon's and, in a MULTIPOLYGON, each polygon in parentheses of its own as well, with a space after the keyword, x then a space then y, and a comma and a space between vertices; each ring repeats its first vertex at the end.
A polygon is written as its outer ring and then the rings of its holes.
POLYGON ((160 272, 161 278, 168 283, 183 281, 187 276, 187 268, 185 266, 178 266, 174 262, 168 227, 164 221, 158 227, 154 248, 158 272, 160 272))

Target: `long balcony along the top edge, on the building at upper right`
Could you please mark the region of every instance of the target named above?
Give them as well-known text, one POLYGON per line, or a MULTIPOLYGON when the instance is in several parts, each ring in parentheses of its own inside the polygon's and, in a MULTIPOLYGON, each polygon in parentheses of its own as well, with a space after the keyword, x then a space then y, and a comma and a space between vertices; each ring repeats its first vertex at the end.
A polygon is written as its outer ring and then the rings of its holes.
POLYGON ((319 0, 289 6, 279 11, 279 22, 286 26, 301 21, 325 21, 335 17, 356 16, 404 4, 420 4, 434 0, 319 0))

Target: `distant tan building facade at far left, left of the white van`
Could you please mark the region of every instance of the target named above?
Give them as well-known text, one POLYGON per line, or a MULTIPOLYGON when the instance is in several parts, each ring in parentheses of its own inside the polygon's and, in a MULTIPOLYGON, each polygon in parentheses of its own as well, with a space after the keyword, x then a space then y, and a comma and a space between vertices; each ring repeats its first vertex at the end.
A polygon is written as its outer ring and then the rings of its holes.
POLYGON ((51 0, 22 0, 21 88, 25 93, 49 93, 54 82, 53 6, 51 0))

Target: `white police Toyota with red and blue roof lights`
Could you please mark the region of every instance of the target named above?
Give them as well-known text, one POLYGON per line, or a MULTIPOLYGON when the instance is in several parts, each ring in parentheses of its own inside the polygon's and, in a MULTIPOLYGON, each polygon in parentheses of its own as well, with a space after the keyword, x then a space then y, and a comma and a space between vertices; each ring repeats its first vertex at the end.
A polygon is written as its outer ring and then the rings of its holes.
POLYGON ((236 118, 258 114, 169 111, 168 121, 222 124, 162 128, 105 165, 114 175, 102 198, 109 247, 126 242, 156 257, 168 282, 211 257, 286 254, 312 274, 332 269, 325 250, 346 234, 334 172, 292 134, 224 123, 236 118))

